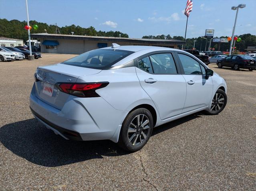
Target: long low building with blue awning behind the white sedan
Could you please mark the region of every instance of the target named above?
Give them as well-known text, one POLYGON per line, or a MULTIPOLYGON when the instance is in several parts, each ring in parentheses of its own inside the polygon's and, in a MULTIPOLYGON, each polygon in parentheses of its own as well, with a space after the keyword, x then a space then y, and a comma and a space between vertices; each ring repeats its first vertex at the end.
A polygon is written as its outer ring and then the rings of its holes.
POLYGON ((174 39, 138 39, 48 33, 31 34, 31 37, 40 40, 42 53, 59 54, 81 54, 93 49, 109 47, 112 43, 119 45, 147 45, 170 48, 177 48, 177 45, 185 44, 185 41, 174 39))

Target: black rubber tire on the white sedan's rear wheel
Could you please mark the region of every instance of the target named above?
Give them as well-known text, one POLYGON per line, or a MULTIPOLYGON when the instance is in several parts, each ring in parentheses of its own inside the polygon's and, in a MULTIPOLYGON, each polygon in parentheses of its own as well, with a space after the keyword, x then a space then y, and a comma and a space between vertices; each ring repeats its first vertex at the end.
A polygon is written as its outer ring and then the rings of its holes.
MULTIPOLYGON (((141 117, 139 117, 141 118, 141 117)), ((140 120, 139 120, 140 121, 140 120)), ((145 123, 146 121, 144 121, 145 123)), ((133 123, 134 124, 134 123, 133 123)), ((137 123, 135 123, 137 124, 137 123)), ((136 152, 138 150, 141 150, 141 148, 143 148, 143 146, 145 146, 145 144, 147 144, 147 141, 149 140, 151 133, 153 130, 153 117, 152 114, 149 112, 149 110, 147 110, 146 108, 138 108, 133 110, 132 112, 130 112, 125 120, 123 121, 122 124, 122 128, 119 134, 119 141, 118 141, 118 145, 123 148, 124 150, 127 150, 129 152, 136 152), (143 119, 145 117, 146 120, 148 120, 148 125, 149 127, 145 126, 145 129, 142 126, 137 126, 134 128, 133 125, 131 124, 132 122, 136 122, 137 120, 137 116, 142 116, 142 121, 141 123, 143 123, 143 119), (146 128, 147 127, 147 128, 146 128), (136 132, 128 132, 129 129, 133 129, 136 132), (145 132, 145 133, 144 133, 145 132), (145 134, 146 137, 144 136, 145 134), (134 136, 135 134, 135 136, 134 136), (129 139, 130 136, 130 139, 129 139), (133 137, 133 138, 132 138, 133 137), (144 137, 144 139, 142 140, 142 138, 144 137), (138 140, 138 143, 136 142, 138 140), (135 142, 135 144, 137 143, 137 145, 132 144, 131 142, 135 142)))

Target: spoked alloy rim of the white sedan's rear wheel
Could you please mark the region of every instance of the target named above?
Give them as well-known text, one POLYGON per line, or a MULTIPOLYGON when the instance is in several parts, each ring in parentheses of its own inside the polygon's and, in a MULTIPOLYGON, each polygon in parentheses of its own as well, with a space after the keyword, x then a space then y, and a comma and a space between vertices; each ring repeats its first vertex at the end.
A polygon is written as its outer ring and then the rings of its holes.
POLYGON ((139 114, 133 118, 128 129, 128 140, 133 146, 140 145, 149 134, 149 118, 144 114, 139 114))

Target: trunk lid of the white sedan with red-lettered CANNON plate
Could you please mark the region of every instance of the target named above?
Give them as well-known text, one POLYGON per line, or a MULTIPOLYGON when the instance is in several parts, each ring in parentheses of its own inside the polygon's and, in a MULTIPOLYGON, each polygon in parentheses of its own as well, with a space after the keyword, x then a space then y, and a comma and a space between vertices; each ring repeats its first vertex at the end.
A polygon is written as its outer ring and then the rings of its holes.
POLYGON ((36 97, 57 109, 62 109, 65 102, 73 96, 59 91, 56 83, 75 83, 80 76, 94 75, 99 72, 101 72, 99 69, 65 64, 38 67, 35 74, 36 97))

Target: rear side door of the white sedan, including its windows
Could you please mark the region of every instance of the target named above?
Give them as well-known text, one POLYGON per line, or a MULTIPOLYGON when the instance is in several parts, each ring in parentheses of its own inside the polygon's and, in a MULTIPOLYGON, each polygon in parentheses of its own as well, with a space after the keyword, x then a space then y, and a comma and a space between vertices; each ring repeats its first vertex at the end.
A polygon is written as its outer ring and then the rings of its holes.
POLYGON ((181 114, 186 98, 186 82, 171 52, 137 59, 136 73, 161 120, 181 114))

